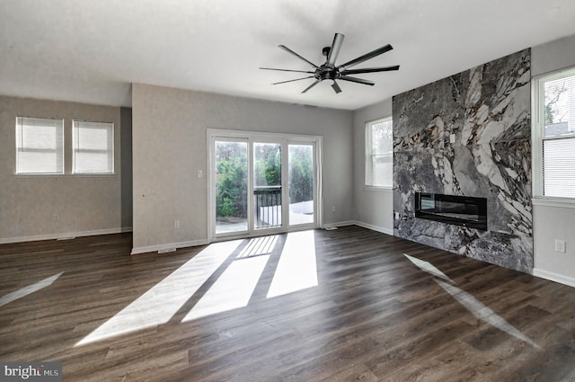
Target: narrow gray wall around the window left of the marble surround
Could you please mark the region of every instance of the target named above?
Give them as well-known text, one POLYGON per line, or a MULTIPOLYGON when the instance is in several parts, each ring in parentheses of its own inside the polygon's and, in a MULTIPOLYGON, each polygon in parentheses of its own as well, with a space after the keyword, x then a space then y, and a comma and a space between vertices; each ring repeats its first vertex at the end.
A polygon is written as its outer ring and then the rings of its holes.
POLYGON ((353 112, 353 184, 358 225, 394 235, 393 192, 365 186, 366 122, 392 115, 392 100, 353 112))

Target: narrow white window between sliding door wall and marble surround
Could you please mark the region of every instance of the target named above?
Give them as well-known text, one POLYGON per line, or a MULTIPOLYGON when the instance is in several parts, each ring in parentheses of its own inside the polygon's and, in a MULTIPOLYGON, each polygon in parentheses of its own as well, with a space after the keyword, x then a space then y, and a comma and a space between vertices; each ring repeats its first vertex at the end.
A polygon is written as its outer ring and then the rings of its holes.
POLYGON ((391 188, 394 173, 392 118, 366 123, 366 185, 391 188))

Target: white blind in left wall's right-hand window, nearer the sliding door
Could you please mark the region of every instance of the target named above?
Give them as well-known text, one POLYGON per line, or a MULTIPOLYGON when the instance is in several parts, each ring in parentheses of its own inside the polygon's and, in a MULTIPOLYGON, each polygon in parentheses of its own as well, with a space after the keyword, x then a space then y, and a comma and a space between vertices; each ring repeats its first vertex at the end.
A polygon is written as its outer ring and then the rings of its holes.
POLYGON ((73 173, 114 173, 114 124, 74 120, 73 173))

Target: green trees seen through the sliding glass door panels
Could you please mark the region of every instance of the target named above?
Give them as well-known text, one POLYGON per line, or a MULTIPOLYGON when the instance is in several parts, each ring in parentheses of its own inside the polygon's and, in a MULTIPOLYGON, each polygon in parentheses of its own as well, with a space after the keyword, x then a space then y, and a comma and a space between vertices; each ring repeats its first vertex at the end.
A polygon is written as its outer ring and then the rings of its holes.
MULTIPOLYGON (((216 209, 218 218, 247 218, 247 145, 217 142, 216 209)), ((254 182, 256 187, 281 185, 281 151, 279 145, 255 147, 254 182)), ((313 200, 312 149, 289 147, 289 199, 291 203, 313 200)))

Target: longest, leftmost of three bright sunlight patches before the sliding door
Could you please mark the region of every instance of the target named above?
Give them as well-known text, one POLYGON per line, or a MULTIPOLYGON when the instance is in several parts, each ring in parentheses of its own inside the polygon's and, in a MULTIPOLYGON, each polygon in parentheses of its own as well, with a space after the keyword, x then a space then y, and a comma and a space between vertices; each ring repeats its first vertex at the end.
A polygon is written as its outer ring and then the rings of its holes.
POLYGON ((241 243, 242 240, 234 240, 209 244, 75 346, 167 323, 241 243))

